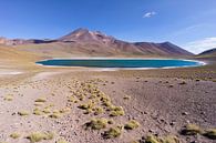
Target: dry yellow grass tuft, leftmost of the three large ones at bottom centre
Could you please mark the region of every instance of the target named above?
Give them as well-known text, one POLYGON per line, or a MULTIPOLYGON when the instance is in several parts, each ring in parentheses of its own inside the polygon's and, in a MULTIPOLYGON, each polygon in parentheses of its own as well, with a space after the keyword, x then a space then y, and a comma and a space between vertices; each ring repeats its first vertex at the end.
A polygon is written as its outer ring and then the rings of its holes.
POLYGON ((86 129, 92 129, 92 130, 101 130, 105 129, 107 125, 107 120, 106 119, 92 119, 90 122, 85 123, 86 129))

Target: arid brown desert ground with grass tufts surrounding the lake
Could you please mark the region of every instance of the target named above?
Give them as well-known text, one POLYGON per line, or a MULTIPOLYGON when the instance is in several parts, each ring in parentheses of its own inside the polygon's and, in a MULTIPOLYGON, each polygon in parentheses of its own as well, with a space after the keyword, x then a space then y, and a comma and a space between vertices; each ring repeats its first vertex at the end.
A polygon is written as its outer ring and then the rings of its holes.
POLYGON ((215 143, 215 58, 119 71, 34 63, 43 59, 1 48, 1 143, 215 143))

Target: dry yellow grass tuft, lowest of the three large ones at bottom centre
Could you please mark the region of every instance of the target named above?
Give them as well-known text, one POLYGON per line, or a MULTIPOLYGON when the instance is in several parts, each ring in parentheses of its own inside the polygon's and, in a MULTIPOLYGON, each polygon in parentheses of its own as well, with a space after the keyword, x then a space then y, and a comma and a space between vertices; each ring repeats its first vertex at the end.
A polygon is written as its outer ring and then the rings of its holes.
POLYGON ((103 137, 104 139, 114 139, 114 137, 119 137, 122 134, 122 126, 117 125, 115 127, 111 127, 110 130, 105 131, 103 133, 103 137))

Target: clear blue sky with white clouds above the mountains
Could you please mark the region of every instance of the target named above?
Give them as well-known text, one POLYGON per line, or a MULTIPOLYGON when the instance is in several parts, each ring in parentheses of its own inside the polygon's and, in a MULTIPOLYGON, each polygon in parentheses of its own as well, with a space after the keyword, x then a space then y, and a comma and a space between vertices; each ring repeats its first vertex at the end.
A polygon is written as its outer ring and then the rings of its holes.
POLYGON ((127 41, 216 48, 216 0, 0 0, 0 35, 59 38, 76 28, 127 41))

